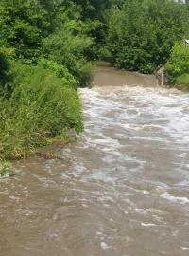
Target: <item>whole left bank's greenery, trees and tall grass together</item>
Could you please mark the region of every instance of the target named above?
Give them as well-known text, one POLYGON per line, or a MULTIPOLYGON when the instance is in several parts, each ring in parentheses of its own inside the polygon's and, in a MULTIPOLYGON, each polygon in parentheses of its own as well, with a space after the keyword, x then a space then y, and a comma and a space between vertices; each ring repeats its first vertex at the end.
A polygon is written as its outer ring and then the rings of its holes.
POLYGON ((9 159, 82 130, 77 86, 91 77, 91 39, 62 1, 0 0, 0 27, 0 159, 9 159))

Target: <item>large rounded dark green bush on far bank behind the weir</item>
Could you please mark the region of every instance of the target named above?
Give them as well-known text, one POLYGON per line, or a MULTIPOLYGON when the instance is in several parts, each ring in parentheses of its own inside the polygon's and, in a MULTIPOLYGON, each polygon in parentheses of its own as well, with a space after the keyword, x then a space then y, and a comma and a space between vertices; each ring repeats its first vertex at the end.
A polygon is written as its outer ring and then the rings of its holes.
POLYGON ((129 0, 109 14, 107 50, 114 65, 153 72, 165 64, 174 43, 187 34, 189 9, 173 1, 129 0))

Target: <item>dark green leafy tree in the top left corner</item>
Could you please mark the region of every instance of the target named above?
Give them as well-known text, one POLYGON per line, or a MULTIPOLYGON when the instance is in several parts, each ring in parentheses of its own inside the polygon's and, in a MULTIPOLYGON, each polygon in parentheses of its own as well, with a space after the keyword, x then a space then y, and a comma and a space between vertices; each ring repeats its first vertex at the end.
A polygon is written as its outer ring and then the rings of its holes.
POLYGON ((27 64, 36 63, 40 55, 42 31, 38 24, 42 18, 29 0, 0 2, 0 36, 15 49, 16 58, 27 64))

